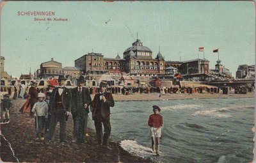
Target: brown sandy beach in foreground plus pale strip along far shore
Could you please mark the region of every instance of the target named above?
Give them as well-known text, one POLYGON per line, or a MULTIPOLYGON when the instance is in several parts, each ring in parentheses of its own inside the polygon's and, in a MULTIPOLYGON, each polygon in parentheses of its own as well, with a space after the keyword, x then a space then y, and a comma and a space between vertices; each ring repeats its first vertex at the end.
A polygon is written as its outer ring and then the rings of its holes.
MULTIPOLYGON (((94 95, 92 95, 92 98, 94 95)), ((150 100, 178 100, 196 98, 253 98, 254 93, 223 95, 221 93, 193 93, 193 94, 166 94, 159 97, 159 93, 132 95, 113 95, 116 102, 122 101, 150 101, 150 100)), ((96 147, 94 128, 89 129, 86 144, 71 143, 73 136, 72 117, 67 123, 67 145, 61 145, 58 134, 52 144, 46 145, 42 141, 35 141, 34 118, 29 118, 28 114, 19 113, 19 109, 24 104, 24 99, 12 100, 10 111, 10 122, 1 124, 1 160, 5 162, 151 162, 140 157, 136 157, 124 151, 118 143, 110 143, 112 150, 106 151, 96 147), (8 144, 12 146, 13 153, 8 144), (16 157, 16 158, 15 158, 16 157)), ((59 133, 57 126, 56 132, 59 133)))

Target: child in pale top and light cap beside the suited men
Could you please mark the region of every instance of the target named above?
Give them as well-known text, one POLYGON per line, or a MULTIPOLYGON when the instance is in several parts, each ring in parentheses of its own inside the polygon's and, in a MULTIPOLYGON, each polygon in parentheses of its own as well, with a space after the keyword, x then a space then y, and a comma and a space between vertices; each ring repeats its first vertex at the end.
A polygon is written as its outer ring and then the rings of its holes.
POLYGON ((48 118, 48 105, 44 101, 44 97, 44 93, 38 93, 38 102, 32 108, 32 113, 35 116, 36 141, 44 140, 45 119, 48 118))

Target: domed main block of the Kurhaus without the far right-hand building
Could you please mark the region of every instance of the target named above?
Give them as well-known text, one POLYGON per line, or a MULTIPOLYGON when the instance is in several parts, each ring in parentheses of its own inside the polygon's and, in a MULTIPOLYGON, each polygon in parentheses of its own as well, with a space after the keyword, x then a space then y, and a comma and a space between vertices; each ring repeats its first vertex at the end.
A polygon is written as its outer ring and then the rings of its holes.
POLYGON ((75 66, 85 74, 100 75, 110 73, 129 73, 136 76, 154 76, 164 74, 164 68, 173 66, 180 69, 182 62, 164 61, 160 50, 156 58, 152 58, 152 50, 143 46, 140 40, 124 51, 124 59, 119 54, 116 58, 104 58, 100 53, 88 53, 75 60, 75 66))

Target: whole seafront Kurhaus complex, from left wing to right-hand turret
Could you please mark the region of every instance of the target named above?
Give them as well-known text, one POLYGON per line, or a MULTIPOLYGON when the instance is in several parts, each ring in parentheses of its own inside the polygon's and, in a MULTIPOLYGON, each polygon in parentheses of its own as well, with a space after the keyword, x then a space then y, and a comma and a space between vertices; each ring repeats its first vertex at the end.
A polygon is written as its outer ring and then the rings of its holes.
MULTIPOLYGON (((116 58, 104 58, 101 53, 88 53, 75 60, 75 66, 83 70, 84 74, 96 79, 95 76, 102 74, 129 74, 133 77, 167 77, 170 75, 168 67, 177 68, 177 73, 181 74, 184 79, 205 81, 209 77, 223 75, 231 77, 227 68, 217 61, 215 70, 209 70, 209 61, 207 59, 193 59, 189 61, 164 61, 160 50, 153 58, 153 52, 148 47, 143 46, 143 42, 136 40, 132 46, 124 50, 124 58, 121 59, 119 54, 116 58), (167 68, 167 69, 166 69, 167 68), (167 71, 166 71, 167 70, 167 71)), ((175 69, 176 71, 176 69, 175 69)), ((172 74, 173 77, 173 74, 172 74)), ((168 78, 168 77, 167 77, 168 78)))

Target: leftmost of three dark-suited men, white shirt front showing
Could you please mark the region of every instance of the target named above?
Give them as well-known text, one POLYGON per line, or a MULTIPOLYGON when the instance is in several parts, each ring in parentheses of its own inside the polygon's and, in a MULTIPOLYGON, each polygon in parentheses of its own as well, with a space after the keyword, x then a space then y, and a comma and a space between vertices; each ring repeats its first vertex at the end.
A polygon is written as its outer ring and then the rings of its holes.
POLYGON ((59 76, 58 82, 59 86, 56 86, 52 90, 49 102, 49 113, 51 114, 51 120, 49 135, 45 140, 46 143, 49 143, 49 141, 52 140, 58 121, 60 121, 60 141, 61 143, 67 143, 65 130, 67 126, 67 117, 71 110, 71 91, 70 89, 64 87, 65 78, 63 75, 59 76))

